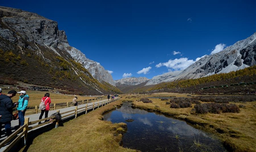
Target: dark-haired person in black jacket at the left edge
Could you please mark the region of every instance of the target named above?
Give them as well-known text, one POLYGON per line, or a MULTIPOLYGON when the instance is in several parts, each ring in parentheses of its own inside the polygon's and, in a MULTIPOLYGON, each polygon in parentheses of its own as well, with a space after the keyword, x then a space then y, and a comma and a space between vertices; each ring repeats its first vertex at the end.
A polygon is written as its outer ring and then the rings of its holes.
POLYGON ((4 124, 5 132, 7 136, 12 134, 11 131, 11 120, 13 120, 13 108, 16 107, 17 103, 13 104, 11 97, 14 97, 17 94, 15 90, 11 90, 7 95, 0 95, 0 124, 4 124))

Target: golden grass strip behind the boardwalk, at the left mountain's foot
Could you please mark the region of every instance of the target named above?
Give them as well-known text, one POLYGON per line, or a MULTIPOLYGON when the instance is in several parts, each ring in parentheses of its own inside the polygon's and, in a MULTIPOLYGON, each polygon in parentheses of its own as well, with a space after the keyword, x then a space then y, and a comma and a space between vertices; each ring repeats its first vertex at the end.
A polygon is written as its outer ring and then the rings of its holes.
MULTIPOLYGON (((4 94, 7 94, 10 90, 3 90, 4 94)), ((20 90, 16 90, 19 92, 20 90)), ((35 107, 38 106, 41 102, 42 97, 45 95, 44 91, 32 91, 32 90, 26 90, 26 93, 29 95, 29 107, 35 107)), ((84 96, 79 96, 79 95, 62 95, 62 94, 54 94, 51 92, 50 93, 50 98, 52 101, 52 104, 54 103, 67 103, 67 102, 72 102, 72 99, 77 96, 77 101, 82 101, 82 100, 90 100, 90 99, 95 99, 96 97, 84 97, 84 96)), ((16 94, 12 98, 13 103, 18 102, 19 99, 19 94, 16 94)))

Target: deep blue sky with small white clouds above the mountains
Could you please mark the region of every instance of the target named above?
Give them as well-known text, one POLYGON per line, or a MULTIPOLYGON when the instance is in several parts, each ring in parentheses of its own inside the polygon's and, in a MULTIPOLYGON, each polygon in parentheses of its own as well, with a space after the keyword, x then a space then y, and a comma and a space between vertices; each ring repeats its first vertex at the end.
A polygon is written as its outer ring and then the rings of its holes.
POLYGON ((57 21, 114 80, 181 70, 256 32, 255 0, 1 0, 57 21))

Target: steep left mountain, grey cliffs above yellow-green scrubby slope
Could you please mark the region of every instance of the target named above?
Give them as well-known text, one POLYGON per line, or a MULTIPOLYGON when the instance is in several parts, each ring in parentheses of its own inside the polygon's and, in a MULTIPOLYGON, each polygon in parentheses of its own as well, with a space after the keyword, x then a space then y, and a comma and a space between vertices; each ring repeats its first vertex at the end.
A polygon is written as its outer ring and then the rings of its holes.
POLYGON ((115 83, 102 66, 69 46, 57 22, 20 9, 0 7, 0 63, 3 83, 11 79, 77 94, 120 92, 109 87, 107 79, 115 83))

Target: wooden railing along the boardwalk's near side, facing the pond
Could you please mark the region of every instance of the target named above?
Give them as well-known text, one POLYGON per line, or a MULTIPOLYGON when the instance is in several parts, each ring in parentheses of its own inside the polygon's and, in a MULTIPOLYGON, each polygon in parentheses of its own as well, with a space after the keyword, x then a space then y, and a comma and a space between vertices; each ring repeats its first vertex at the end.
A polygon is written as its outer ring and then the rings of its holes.
MULTIPOLYGON (((84 102, 82 101, 82 104, 86 104, 84 107, 81 107, 81 108, 78 108, 77 106, 74 106, 75 109, 74 110, 70 110, 70 111, 66 111, 66 112, 63 112, 63 113, 60 113, 60 110, 57 111, 61 114, 62 116, 62 119, 65 119, 65 118, 68 118, 68 117, 73 117, 73 115, 75 116, 75 118, 77 118, 77 114, 79 113, 83 113, 85 112, 85 114, 88 113, 88 110, 94 110, 95 108, 99 108, 99 107, 102 107, 102 106, 105 106, 106 104, 109 104, 113 101, 116 101, 118 98, 116 99, 104 99, 102 101, 96 101, 94 99, 91 100, 91 102, 84 102), (93 102, 93 100, 95 102, 93 102), (93 103, 93 104, 90 104, 88 105, 88 103, 93 103), (67 114, 69 113, 69 114, 67 114), (64 114, 67 114, 67 115, 64 115, 64 114)), ((81 104, 79 104, 81 105, 81 104)), ((67 107, 68 107, 68 104, 67 104, 67 107)), ((18 141, 21 140, 21 138, 24 138, 24 145, 27 144, 27 134, 30 130, 32 129, 36 129, 38 127, 41 127, 42 125, 45 125, 45 124, 49 124, 49 123, 52 123, 52 122, 55 122, 55 128, 57 128, 59 126, 59 120, 56 120, 55 119, 55 116, 52 116, 52 117, 48 117, 48 118, 43 118, 43 119, 39 119, 39 120, 35 120, 35 121, 29 121, 29 118, 25 118, 25 122, 24 122, 24 125, 21 126, 19 129, 17 129, 16 131, 14 131, 14 133, 12 133, 9 137, 5 138, 5 140, 3 140, 1 143, 0 143, 0 148, 4 147, 7 143, 9 143, 11 141, 11 143, 6 146, 6 148, 4 150, 0 150, 2 152, 7 152, 9 151, 14 145, 15 143, 17 143, 18 141), (50 120, 52 119, 52 120, 50 120), (41 122, 43 120, 50 120, 50 121, 47 121, 45 123, 42 123, 42 124, 38 124, 38 125, 34 125, 34 126, 29 126, 29 125, 32 125, 32 124, 36 124, 38 122, 41 122)))

